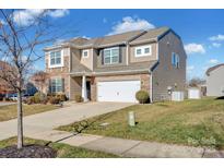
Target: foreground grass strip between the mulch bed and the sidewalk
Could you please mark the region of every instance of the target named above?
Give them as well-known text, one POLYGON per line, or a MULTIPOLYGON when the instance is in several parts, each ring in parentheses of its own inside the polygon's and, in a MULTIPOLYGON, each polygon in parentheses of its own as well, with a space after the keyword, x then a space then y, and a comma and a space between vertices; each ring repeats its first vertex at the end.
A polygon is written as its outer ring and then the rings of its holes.
MULTIPOLYGON (((47 141, 25 139, 25 144, 39 144, 46 145, 47 141)), ((16 144, 16 137, 0 141, 0 148, 16 144)), ((90 151, 81 147, 74 147, 62 143, 50 143, 50 147, 57 151, 59 158, 111 158, 118 157, 116 155, 106 154, 103 152, 90 151)))

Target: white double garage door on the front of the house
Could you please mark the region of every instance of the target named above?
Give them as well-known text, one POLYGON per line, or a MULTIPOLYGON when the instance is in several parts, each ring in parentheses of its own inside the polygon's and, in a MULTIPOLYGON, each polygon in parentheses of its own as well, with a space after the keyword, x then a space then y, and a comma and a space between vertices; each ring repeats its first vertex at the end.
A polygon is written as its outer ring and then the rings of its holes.
POLYGON ((137 103, 135 93, 140 88, 140 81, 98 82, 97 100, 137 103))

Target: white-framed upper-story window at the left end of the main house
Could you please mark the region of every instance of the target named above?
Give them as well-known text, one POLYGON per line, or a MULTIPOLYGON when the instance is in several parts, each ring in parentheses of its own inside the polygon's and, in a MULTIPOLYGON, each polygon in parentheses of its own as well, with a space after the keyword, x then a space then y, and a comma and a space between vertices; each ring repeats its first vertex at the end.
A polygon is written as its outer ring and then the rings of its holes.
POLYGON ((49 68, 57 68, 63 65, 63 59, 61 56, 61 50, 50 51, 49 68))

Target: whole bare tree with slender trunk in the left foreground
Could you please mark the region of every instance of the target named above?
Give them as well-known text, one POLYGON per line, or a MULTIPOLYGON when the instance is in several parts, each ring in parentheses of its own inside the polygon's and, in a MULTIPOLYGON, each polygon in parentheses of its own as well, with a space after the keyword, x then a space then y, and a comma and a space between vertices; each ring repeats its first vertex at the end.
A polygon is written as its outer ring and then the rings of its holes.
POLYGON ((43 55, 37 50, 43 45, 56 41, 54 25, 46 14, 49 10, 42 10, 32 16, 28 24, 20 24, 15 20, 16 10, 0 10, 0 59, 9 67, 1 68, 0 79, 4 80, 17 93, 17 148, 23 147, 23 105, 22 92, 27 74, 34 62, 43 55))

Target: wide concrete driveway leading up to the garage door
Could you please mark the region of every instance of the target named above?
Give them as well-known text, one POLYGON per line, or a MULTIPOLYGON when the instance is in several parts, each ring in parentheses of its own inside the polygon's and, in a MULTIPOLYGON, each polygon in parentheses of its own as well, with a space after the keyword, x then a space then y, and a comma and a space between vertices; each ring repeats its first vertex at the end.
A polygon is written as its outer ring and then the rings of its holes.
MULTIPOLYGON (((86 103, 24 117, 24 135, 52 131, 59 125, 81 121, 94 116, 111 112, 133 104, 129 103, 86 103)), ((16 135, 16 120, 0 122, 0 140, 16 135)))

